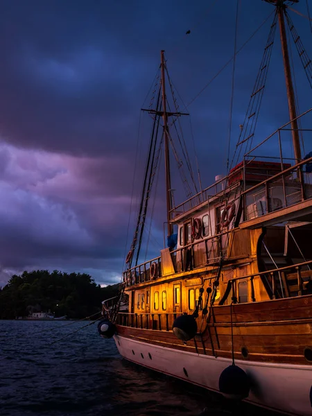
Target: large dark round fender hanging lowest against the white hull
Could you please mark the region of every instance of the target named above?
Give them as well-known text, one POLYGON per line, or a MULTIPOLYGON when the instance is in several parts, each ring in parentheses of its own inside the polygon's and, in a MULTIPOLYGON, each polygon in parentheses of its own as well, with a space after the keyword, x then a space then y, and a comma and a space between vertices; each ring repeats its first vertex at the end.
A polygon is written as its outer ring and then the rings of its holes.
POLYGON ((250 379, 241 367, 229 365, 220 374, 219 390, 227 399, 243 400, 249 395, 250 379))

